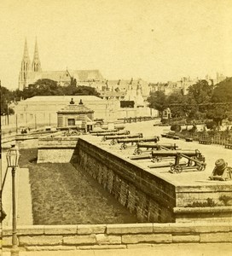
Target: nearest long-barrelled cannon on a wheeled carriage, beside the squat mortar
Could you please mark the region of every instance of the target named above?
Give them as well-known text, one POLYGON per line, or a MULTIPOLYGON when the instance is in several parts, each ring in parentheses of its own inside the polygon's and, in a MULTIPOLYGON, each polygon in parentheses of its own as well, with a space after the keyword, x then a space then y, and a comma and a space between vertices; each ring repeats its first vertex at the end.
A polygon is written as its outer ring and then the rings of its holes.
POLYGON ((174 164, 171 164, 171 173, 180 173, 183 170, 190 171, 204 171, 206 169, 205 157, 200 153, 198 149, 196 150, 156 150, 152 151, 152 161, 159 162, 162 158, 174 158, 174 164), (185 158, 188 160, 186 166, 180 165, 180 160, 185 158))

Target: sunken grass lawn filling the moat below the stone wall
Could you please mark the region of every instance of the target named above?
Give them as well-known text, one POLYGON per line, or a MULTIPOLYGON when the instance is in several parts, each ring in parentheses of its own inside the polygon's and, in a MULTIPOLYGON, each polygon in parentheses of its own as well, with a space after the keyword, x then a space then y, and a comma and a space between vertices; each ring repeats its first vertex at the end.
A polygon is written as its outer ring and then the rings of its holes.
POLYGON ((37 164, 37 149, 20 150, 30 171, 34 224, 119 224, 137 219, 80 167, 37 164))

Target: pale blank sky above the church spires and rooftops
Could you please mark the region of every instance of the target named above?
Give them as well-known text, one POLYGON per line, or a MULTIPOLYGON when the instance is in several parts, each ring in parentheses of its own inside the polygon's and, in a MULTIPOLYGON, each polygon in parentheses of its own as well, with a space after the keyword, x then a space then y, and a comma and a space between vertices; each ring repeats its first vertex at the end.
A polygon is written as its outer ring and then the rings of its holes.
POLYGON ((0 79, 18 87, 25 38, 43 71, 105 79, 232 76, 232 0, 1 0, 0 79))

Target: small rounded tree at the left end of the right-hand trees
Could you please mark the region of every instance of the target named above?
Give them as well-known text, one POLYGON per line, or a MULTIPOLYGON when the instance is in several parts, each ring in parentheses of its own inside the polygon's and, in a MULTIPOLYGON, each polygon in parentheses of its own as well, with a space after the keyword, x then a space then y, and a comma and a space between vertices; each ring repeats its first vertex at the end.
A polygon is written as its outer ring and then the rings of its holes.
POLYGON ((149 108, 154 108, 159 111, 159 115, 162 118, 163 111, 167 108, 165 93, 161 90, 150 92, 148 96, 149 108))

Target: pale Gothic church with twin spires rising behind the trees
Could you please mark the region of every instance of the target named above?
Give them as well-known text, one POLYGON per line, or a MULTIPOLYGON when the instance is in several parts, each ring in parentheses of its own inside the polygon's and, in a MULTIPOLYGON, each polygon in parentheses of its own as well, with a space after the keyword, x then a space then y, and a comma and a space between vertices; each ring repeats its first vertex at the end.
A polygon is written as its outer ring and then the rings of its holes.
POLYGON ((61 86, 67 86, 71 79, 77 82, 102 81, 104 80, 99 70, 62 70, 62 71, 42 71, 41 62, 38 55, 38 42, 36 39, 32 63, 30 61, 27 42, 25 40, 24 53, 21 61, 19 75, 19 90, 24 90, 29 84, 34 84, 38 79, 51 79, 61 86))

